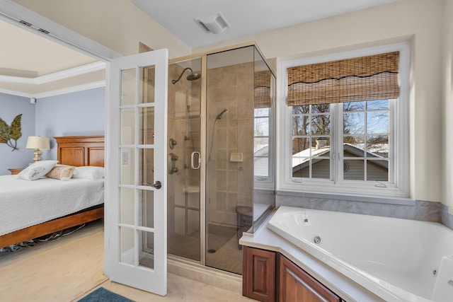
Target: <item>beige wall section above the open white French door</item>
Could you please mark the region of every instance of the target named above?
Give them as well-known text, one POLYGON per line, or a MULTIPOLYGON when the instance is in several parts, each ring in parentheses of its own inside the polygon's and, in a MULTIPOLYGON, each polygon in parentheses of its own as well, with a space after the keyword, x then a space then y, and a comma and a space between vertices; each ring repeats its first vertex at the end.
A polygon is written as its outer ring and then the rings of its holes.
POLYGON ((13 0, 120 54, 137 54, 139 42, 181 57, 191 48, 128 0, 13 0))

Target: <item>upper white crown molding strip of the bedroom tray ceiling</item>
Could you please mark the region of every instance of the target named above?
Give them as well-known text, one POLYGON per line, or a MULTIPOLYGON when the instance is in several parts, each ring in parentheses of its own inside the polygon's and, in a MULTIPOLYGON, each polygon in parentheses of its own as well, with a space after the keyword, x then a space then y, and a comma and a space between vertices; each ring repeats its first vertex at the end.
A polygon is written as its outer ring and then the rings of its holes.
POLYGON ((77 66, 71 69, 66 69, 63 71, 57 71, 52 74, 46 74, 45 76, 37 76, 36 78, 24 78, 22 76, 0 75, 0 82, 41 85, 53 81, 71 78, 72 76, 80 76, 81 74, 88 74, 93 71, 100 71, 104 69, 105 62, 95 62, 91 64, 77 66))

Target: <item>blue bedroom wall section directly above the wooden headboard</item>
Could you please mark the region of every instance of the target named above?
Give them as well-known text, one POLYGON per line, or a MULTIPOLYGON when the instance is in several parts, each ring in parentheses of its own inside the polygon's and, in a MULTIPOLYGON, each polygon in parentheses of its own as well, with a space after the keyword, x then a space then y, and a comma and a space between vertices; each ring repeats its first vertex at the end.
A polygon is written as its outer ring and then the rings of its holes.
POLYGON ((36 100, 36 135, 50 138, 42 159, 57 159, 53 137, 104 134, 104 103, 104 87, 36 100))

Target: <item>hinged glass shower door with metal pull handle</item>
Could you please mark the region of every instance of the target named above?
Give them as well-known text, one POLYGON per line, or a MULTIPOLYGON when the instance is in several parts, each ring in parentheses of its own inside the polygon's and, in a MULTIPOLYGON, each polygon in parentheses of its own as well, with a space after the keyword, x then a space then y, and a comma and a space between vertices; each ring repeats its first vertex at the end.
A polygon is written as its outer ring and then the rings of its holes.
POLYGON ((200 261, 201 59, 168 66, 168 253, 200 261))

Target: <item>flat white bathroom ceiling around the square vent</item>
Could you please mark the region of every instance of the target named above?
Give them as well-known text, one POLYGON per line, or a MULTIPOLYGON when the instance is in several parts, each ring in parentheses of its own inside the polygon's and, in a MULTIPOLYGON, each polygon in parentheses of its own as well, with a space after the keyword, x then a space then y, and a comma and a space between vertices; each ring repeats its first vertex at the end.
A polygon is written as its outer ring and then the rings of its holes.
POLYGON ((389 4, 397 0, 130 0, 190 47, 389 4), (222 13, 231 28, 207 33, 194 19, 222 13))

